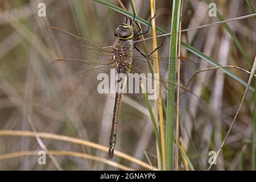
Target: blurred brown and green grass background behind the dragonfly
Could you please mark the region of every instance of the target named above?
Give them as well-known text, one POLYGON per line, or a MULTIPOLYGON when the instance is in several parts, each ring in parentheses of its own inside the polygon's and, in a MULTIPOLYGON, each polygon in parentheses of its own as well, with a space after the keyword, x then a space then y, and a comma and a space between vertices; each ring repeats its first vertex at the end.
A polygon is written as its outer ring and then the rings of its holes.
MULTIPOLYGON (((108 2, 119 6, 117 1, 108 2)), ((250 14, 256 7, 255 1, 211 2, 216 3, 218 12, 225 19, 250 14)), ((128 11, 133 12, 130 1, 122 3, 128 11)), ((139 17, 150 19, 149 1, 134 1, 134 5, 139 17)), ((155 9, 156 27, 170 31, 172 1, 156 1, 155 9)), ((184 1, 181 29, 217 22, 219 19, 210 17, 208 11, 205 1, 184 1)), ((55 26, 108 46, 114 43, 113 32, 122 22, 125 22, 125 16, 89 0, 0 1, 0 129, 31 131, 32 121, 37 131, 67 135, 108 147, 114 96, 99 95, 60 80, 50 73, 48 65, 57 55, 44 43, 40 30, 46 26, 55 26), (37 15, 40 2, 46 3, 46 17, 37 15)), ((256 54, 255 18, 228 24, 252 64, 256 54)), ((142 25, 142 28, 146 27, 142 25)), ((183 42, 217 63, 236 65, 250 71, 250 63, 223 26, 200 28, 181 35, 183 42)), ((150 36, 151 30, 145 37, 150 36)), ((151 41, 146 43, 151 50, 151 41)), ((158 44, 160 43, 163 43, 163 48, 159 49, 159 55, 168 56, 170 39, 159 38, 158 44)), ((199 63, 201 69, 212 67, 184 48, 181 49, 181 55, 199 63)), ((249 78, 249 75, 236 69, 229 71, 245 82, 249 78)), ((200 73, 189 89, 201 98, 204 106, 180 109, 180 134, 193 167, 196 170, 207 169, 208 152, 218 150, 236 114, 245 86, 223 72, 209 71, 200 73)), ((247 94, 232 133, 213 170, 255 170, 255 98, 253 92, 247 94)), ((48 150, 74 151, 107 158, 106 152, 95 148, 41 139, 48 150)), ((143 100, 124 97, 116 149, 158 167, 154 129, 143 100)), ((0 155, 36 150, 42 148, 34 137, 0 136, 0 155)), ((55 157, 63 169, 118 169, 102 160, 96 162, 74 156, 55 157)), ((47 165, 40 166, 37 160, 37 155, 2 159, 0 169, 56 169, 48 157, 47 165)), ((133 169, 145 169, 118 156, 114 156, 113 160, 133 169)), ((180 169, 185 169, 184 164, 180 169)))

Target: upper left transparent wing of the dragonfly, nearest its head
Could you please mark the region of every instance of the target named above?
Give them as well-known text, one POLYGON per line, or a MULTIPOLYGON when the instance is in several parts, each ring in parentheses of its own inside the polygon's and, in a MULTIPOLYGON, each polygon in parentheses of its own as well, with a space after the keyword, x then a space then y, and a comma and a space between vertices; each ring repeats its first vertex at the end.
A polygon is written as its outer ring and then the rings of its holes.
POLYGON ((113 50, 100 43, 80 38, 56 27, 41 30, 44 40, 62 53, 65 59, 108 61, 113 50), (105 47, 105 48, 104 48, 105 47))

